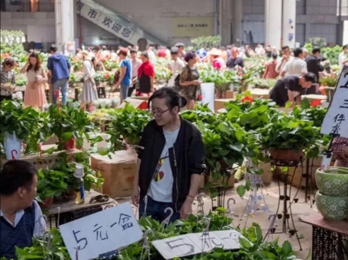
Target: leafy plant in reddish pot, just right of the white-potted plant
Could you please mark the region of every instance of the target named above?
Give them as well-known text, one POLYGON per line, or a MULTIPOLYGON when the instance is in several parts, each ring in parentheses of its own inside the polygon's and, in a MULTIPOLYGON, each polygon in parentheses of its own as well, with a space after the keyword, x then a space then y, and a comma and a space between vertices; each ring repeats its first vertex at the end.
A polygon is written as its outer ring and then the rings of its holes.
POLYGON ((71 150, 82 147, 83 136, 89 139, 88 132, 92 132, 94 124, 88 119, 87 112, 73 107, 59 107, 51 105, 48 108, 47 125, 58 138, 58 150, 71 150))

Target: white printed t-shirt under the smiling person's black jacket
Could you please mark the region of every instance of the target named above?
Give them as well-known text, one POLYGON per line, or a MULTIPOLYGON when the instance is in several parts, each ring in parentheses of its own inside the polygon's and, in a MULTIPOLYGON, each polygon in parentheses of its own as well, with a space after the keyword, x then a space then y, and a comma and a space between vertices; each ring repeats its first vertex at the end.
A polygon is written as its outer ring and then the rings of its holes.
POLYGON ((170 167, 169 148, 172 148, 177 140, 179 129, 172 132, 163 129, 165 145, 148 191, 148 196, 156 201, 172 202, 171 196, 174 178, 170 167))

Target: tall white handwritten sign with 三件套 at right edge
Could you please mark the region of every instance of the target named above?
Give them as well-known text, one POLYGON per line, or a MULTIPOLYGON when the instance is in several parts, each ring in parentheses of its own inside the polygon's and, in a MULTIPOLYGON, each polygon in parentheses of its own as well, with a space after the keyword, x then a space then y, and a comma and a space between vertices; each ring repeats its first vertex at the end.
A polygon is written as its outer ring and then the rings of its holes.
POLYGON ((321 124, 321 134, 348 138, 348 68, 345 68, 336 86, 330 107, 321 124))

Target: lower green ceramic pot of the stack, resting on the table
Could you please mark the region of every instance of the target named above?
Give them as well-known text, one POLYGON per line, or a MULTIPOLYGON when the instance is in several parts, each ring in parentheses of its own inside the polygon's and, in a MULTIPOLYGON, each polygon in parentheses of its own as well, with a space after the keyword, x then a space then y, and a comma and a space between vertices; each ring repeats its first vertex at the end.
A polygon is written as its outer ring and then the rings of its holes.
POLYGON ((317 191, 315 201, 316 207, 324 219, 343 221, 348 218, 348 196, 331 197, 317 191))

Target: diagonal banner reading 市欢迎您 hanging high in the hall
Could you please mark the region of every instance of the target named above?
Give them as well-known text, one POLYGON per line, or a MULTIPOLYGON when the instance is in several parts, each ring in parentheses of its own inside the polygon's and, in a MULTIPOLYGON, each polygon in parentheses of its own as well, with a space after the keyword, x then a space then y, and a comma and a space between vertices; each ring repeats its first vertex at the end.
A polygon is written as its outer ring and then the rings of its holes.
POLYGON ((88 20, 96 23, 103 29, 113 33, 117 37, 132 42, 135 34, 133 30, 121 22, 121 19, 116 16, 107 15, 99 9, 93 8, 85 3, 83 0, 77 1, 77 11, 88 20))

